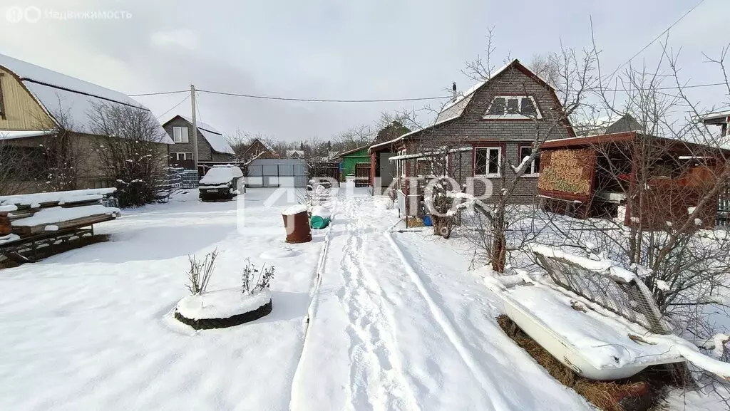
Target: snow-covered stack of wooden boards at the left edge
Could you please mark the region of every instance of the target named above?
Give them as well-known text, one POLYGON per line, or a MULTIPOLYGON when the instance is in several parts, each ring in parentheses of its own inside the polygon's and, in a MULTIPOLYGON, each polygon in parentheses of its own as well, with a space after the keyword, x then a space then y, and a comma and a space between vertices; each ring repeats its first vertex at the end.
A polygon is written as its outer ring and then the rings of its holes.
POLYGON ((113 220, 118 208, 105 207, 116 188, 0 196, 0 245, 113 220))

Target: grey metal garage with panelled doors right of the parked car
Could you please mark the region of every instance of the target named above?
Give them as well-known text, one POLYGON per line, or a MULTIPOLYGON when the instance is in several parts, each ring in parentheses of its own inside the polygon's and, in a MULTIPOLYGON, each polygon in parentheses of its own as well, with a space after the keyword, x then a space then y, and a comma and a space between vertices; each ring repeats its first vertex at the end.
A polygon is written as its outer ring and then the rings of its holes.
POLYGON ((247 165, 248 187, 306 187, 309 181, 307 161, 296 158, 260 158, 247 165))

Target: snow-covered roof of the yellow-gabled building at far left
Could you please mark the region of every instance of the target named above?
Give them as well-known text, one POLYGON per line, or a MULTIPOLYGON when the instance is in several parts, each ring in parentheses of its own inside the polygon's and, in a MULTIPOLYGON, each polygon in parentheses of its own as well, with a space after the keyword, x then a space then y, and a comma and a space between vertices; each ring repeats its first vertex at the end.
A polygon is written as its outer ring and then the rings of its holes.
MULTIPOLYGON (((66 124, 65 127, 68 131, 91 133, 88 113, 94 104, 120 104, 150 111, 139 101, 124 93, 54 72, 8 55, 0 54, 0 67, 18 78, 23 87, 58 126, 61 126, 56 118, 58 112, 67 114, 69 124, 66 124)), ((159 123, 158 126, 160 126, 159 123)), ((160 126, 159 132, 161 136, 164 136, 165 144, 173 144, 162 126, 160 126)))

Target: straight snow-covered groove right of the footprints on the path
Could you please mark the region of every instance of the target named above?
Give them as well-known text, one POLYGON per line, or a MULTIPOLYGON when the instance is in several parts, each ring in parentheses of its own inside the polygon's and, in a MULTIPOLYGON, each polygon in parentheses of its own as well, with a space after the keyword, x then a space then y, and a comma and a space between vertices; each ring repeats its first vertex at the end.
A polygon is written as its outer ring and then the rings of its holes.
POLYGON ((408 273, 408 276, 415 284, 416 288, 418 288, 418 292, 421 296, 423 296, 423 299, 426 300, 426 303, 429 305, 429 309, 431 310, 431 315, 434 317, 434 320, 436 320, 439 328, 442 329, 446 337, 449 339, 449 342, 453 345, 454 348, 456 348, 458 355, 464 361, 464 364, 466 364, 466 366, 469 368, 469 371, 472 372, 476 380, 481 385, 482 389, 485 391, 485 393, 488 393, 488 397, 492 402, 492 409, 512 410, 514 408, 511 406, 512 404, 507 404, 502 393, 495 389, 495 387, 497 386, 497 384, 495 383, 496 377, 488 374, 485 369, 483 369, 482 366, 480 366, 480 364, 476 361, 474 356, 472 356, 469 348, 467 348, 464 344, 464 338, 458 334, 451 321, 443 312, 442 308, 439 307, 436 301, 434 301, 433 297, 431 297, 431 293, 429 293, 429 290, 428 288, 426 288, 426 285, 423 283, 420 275, 408 262, 407 258, 403 254, 403 251, 396 244, 396 241, 395 239, 393 239, 393 235, 391 234, 391 230, 396 225, 398 225, 398 223, 400 223, 400 221, 393 224, 391 228, 388 228, 388 230, 386 230, 383 235, 388 239, 388 242, 390 242, 393 251, 395 251, 396 255, 400 258, 404 269, 408 273))

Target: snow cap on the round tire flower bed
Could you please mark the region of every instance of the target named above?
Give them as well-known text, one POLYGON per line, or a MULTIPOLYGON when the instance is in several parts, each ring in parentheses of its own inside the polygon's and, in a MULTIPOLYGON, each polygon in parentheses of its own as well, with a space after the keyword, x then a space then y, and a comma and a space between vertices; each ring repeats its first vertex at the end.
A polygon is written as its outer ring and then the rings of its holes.
MULTIPOLYGON (((240 287, 237 287, 185 296, 177 303, 175 310, 191 320, 228 318, 257 310, 268 304, 269 301, 272 301, 272 293, 269 289, 248 296, 241 292, 240 287)), ((274 301, 272 301, 273 304, 274 301)))

